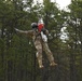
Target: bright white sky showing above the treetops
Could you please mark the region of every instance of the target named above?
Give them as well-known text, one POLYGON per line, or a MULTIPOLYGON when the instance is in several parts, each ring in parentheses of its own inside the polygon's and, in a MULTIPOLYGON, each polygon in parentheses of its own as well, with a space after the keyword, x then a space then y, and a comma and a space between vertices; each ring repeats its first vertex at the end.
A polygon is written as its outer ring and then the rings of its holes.
MULTIPOLYGON (((33 0, 33 1, 35 2, 36 1, 43 2, 43 0, 33 0)), ((58 5, 59 5, 60 9, 66 8, 71 2, 71 0, 51 0, 51 1, 58 3, 58 5)))

